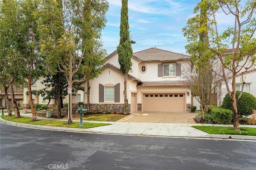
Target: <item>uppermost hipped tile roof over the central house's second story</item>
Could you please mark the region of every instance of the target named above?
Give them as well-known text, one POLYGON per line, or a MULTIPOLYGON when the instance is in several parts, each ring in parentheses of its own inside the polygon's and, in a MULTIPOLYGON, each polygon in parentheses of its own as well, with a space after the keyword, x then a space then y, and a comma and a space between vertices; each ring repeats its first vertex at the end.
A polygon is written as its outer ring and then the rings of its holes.
POLYGON ((189 55, 175 53, 158 48, 149 48, 133 53, 141 61, 176 61, 179 59, 188 59, 189 55))

